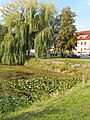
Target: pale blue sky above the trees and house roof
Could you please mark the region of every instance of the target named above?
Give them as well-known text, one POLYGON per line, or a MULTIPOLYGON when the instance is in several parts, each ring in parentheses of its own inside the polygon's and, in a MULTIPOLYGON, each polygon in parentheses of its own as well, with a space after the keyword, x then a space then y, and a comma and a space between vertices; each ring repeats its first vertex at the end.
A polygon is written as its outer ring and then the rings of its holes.
MULTIPOLYGON (((12 0, 0 0, 0 7, 12 0)), ((40 0, 38 0, 40 1, 40 0)), ((44 2, 55 2, 58 11, 63 7, 70 6, 76 12, 76 27, 78 31, 90 30, 90 0, 41 0, 44 2)))

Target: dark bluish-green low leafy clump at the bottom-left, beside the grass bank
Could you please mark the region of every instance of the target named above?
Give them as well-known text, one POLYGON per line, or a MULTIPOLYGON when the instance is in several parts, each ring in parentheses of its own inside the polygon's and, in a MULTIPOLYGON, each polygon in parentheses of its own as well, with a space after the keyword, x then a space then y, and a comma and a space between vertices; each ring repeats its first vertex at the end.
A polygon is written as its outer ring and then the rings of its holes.
POLYGON ((27 101, 27 98, 25 96, 22 96, 22 97, 12 96, 7 98, 1 98, 0 112, 1 113, 6 113, 10 111, 14 112, 16 108, 26 107, 27 104, 30 104, 30 102, 27 101))

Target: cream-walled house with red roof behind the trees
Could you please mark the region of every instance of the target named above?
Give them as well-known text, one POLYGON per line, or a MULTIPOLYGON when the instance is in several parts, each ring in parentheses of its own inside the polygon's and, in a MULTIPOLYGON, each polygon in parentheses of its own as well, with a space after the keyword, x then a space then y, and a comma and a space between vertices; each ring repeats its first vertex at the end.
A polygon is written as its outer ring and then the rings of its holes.
POLYGON ((76 32, 77 37, 77 53, 83 53, 85 51, 90 51, 90 30, 76 32))

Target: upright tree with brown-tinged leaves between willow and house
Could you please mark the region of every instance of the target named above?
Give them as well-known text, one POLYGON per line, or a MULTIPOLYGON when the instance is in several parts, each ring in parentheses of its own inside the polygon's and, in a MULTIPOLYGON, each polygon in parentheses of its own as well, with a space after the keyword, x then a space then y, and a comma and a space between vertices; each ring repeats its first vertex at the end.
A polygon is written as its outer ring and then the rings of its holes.
POLYGON ((61 52, 61 57, 63 57, 65 51, 70 53, 75 49, 75 16, 75 12, 72 12, 70 7, 63 8, 60 14, 60 30, 56 37, 56 49, 61 52))

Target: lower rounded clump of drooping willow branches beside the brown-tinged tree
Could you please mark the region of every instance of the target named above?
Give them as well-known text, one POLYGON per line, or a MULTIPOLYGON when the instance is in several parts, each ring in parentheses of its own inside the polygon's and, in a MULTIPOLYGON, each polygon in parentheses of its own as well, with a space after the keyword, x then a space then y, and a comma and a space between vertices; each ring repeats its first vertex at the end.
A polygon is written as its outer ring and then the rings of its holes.
POLYGON ((35 38, 36 58, 44 58, 44 54, 46 54, 47 58, 50 57, 52 35, 53 35, 52 27, 47 27, 37 34, 35 38))

